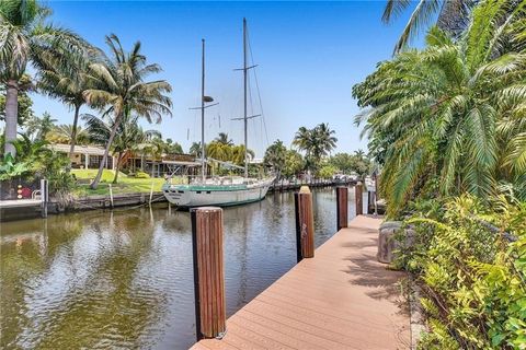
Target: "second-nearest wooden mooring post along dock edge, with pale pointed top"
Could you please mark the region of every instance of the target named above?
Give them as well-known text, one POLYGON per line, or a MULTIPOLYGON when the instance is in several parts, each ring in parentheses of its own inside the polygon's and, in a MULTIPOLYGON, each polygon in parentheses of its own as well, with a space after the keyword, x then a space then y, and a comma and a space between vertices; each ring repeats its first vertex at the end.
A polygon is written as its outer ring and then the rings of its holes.
POLYGON ((308 186, 301 186, 294 194, 296 209, 296 250, 297 260, 315 257, 315 217, 312 212, 312 194, 308 186))

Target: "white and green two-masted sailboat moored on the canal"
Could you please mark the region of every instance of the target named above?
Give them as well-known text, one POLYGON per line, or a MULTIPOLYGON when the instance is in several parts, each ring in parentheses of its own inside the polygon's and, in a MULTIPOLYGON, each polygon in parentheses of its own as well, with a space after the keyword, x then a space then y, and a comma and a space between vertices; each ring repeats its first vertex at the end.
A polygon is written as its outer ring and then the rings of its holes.
POLYGON ((275 177, 250 178, 249 177, 249 154, 248 154, 248 120, 256 116, 249 116, 247 108, 247 91, 248 91, 248 72, 255 66, 248 66, 248 36, 247 20, 243 19, 243 117, 237 118, 244 122, 244 176, 235 177, 206 177, 205 167, 207 164, 205 154, 205 109, 216 104, 210 104, 214 100, 205 95, 205 39, 203 39, 202 55, 202 80, 201 80, 201 178, 196 178, 187 185, 172 185, 167 182, 162 191, 164 197, 171 203, 183 207, 202 207, 202 206, 238 206, 260 201, 265 198, 268 187, 275 177))

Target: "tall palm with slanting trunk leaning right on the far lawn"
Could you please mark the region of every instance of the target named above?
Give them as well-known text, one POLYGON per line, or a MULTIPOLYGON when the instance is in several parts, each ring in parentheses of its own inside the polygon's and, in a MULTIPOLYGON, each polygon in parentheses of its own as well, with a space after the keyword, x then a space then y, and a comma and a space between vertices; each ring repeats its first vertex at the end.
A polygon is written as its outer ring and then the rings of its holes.
POLYGON ((160 122, 162 115, 172 114, 170 109, 172 102, 165 95, 171 92, 171 85, 164 80, 145 81, 149 74, 160 72, 161 68, 158 65, 147 65, 146 56, 140 54, 140 42, 137 42, 129 52, 124 51, 118 37, 114 34, 106 36, 106 44, 112 58, 104 58, 103 62, 90 66, 94 88, 84 92, 84 97, 91 106, 103 110, 103 116, 113 114, 114 118, 103 161, 91 184, 93 189, 101 180, 107 153, 123 118, 134 114, 149 122, 153 119, 160 122))

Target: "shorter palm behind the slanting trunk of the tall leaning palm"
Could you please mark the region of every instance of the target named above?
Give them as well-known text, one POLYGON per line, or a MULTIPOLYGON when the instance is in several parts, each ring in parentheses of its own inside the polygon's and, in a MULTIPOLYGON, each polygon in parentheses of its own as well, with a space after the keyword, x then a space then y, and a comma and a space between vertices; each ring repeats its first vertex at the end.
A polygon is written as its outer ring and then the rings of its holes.
MULTIPOLYGON (((115 126, 115 120, 111 117, 106 117, 108 122, 104 122, 98 117, 85 114, 82 119, 87 125, 87 132, 90 136, 90 141, 96 144, 104 145, 112 133, 115 126)), ((117 128, 117 133, 112 142, 112 152, 117 154, 117 162, 115 163, 115 175, 113 177, 113 184, 117 183, 118 173, 124 156, 129 152, 134 145, 139 144, 144 140, 144 133, 140 127, 137 125, 138 116, 124 116, 117 128)))

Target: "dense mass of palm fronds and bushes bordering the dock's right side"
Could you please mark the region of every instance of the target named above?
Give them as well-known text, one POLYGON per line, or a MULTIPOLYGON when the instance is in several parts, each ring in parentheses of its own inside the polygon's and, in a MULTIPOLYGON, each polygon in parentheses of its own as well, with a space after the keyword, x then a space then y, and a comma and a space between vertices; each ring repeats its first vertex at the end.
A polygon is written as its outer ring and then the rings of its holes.
MULTIPOLYGON (((419 349, 526 349, 526 1, 431 3, 353 88, 403 222, 393 267, 422 291, 419 349)), ((412 5, 388 1, 384 20, 412 5)))

